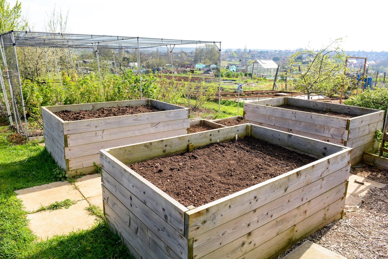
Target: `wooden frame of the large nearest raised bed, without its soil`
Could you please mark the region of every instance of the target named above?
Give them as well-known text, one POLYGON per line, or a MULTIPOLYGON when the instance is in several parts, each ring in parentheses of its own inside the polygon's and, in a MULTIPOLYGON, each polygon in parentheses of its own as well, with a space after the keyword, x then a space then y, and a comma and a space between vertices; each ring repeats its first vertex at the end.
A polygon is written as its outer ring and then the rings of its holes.
POLYGON ((350 148, 250 123, 104 149, 104 216, 137 259, 266 259, 341 218, 350 155, 350 148), (183 206, 126 166, 236 134, 319 159, 197 208, 183 206))

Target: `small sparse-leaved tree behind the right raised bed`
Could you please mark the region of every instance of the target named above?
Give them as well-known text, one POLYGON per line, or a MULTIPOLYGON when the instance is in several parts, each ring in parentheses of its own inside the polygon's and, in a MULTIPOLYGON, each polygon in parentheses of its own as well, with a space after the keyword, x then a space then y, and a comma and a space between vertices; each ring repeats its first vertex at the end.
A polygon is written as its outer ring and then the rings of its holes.
MULTIPOLYGON (((296 80, 290 82, 295 89, 307 92, 310 99, 312 93, 333 95, 340 93, 342 86, 345 90, 352 89, 350 79, 343 74, 345 70, 345 53, 340 48, 342 38, 338 38, 320 50, 311 50, 309 47, 300 50, 290 57, 287 69, 296 74, 296 80), (296 62, 306 57, 307 69, 300 70, 296 62)), ((306 65, 304 66, 306 68, 306 65)))

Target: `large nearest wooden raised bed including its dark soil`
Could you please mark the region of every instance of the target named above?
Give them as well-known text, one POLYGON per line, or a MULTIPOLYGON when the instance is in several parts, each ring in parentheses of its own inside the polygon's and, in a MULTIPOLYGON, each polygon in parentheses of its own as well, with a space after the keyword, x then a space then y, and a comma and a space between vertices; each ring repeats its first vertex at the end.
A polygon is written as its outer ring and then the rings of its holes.
POLYGON ((139 259, 267 259, 341 218, 350 155, 249 123, 100 150, 105 219, 139 259))

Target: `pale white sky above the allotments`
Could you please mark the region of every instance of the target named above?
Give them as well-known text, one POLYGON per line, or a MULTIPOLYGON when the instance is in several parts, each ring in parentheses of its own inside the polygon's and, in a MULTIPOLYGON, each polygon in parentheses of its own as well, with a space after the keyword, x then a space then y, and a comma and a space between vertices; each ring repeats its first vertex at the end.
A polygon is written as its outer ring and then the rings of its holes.
POLYGON ((296 49, 309 42, 318 49, 343 37, 345 50, 388 51, 386 0, 19 2, 34 31, 42 31, 55 3, 55 11, 69 10, 71 33, 221 41, 222 49, 296 49))

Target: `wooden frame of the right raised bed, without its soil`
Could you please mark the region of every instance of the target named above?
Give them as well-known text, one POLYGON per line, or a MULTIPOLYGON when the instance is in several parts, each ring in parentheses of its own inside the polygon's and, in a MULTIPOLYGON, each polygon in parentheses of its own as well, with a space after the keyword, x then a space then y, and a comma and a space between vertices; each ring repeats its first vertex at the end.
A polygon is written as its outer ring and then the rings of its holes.
POLYGON ((290 97, 244 103, 248 122, 353 148, 352 165, 361 162, 364 152, 378 148, 374 132, 383 128, 383 116, 381 110, 290 97), (283 104, 360 116, 349 119, 275 107, 283 104))

